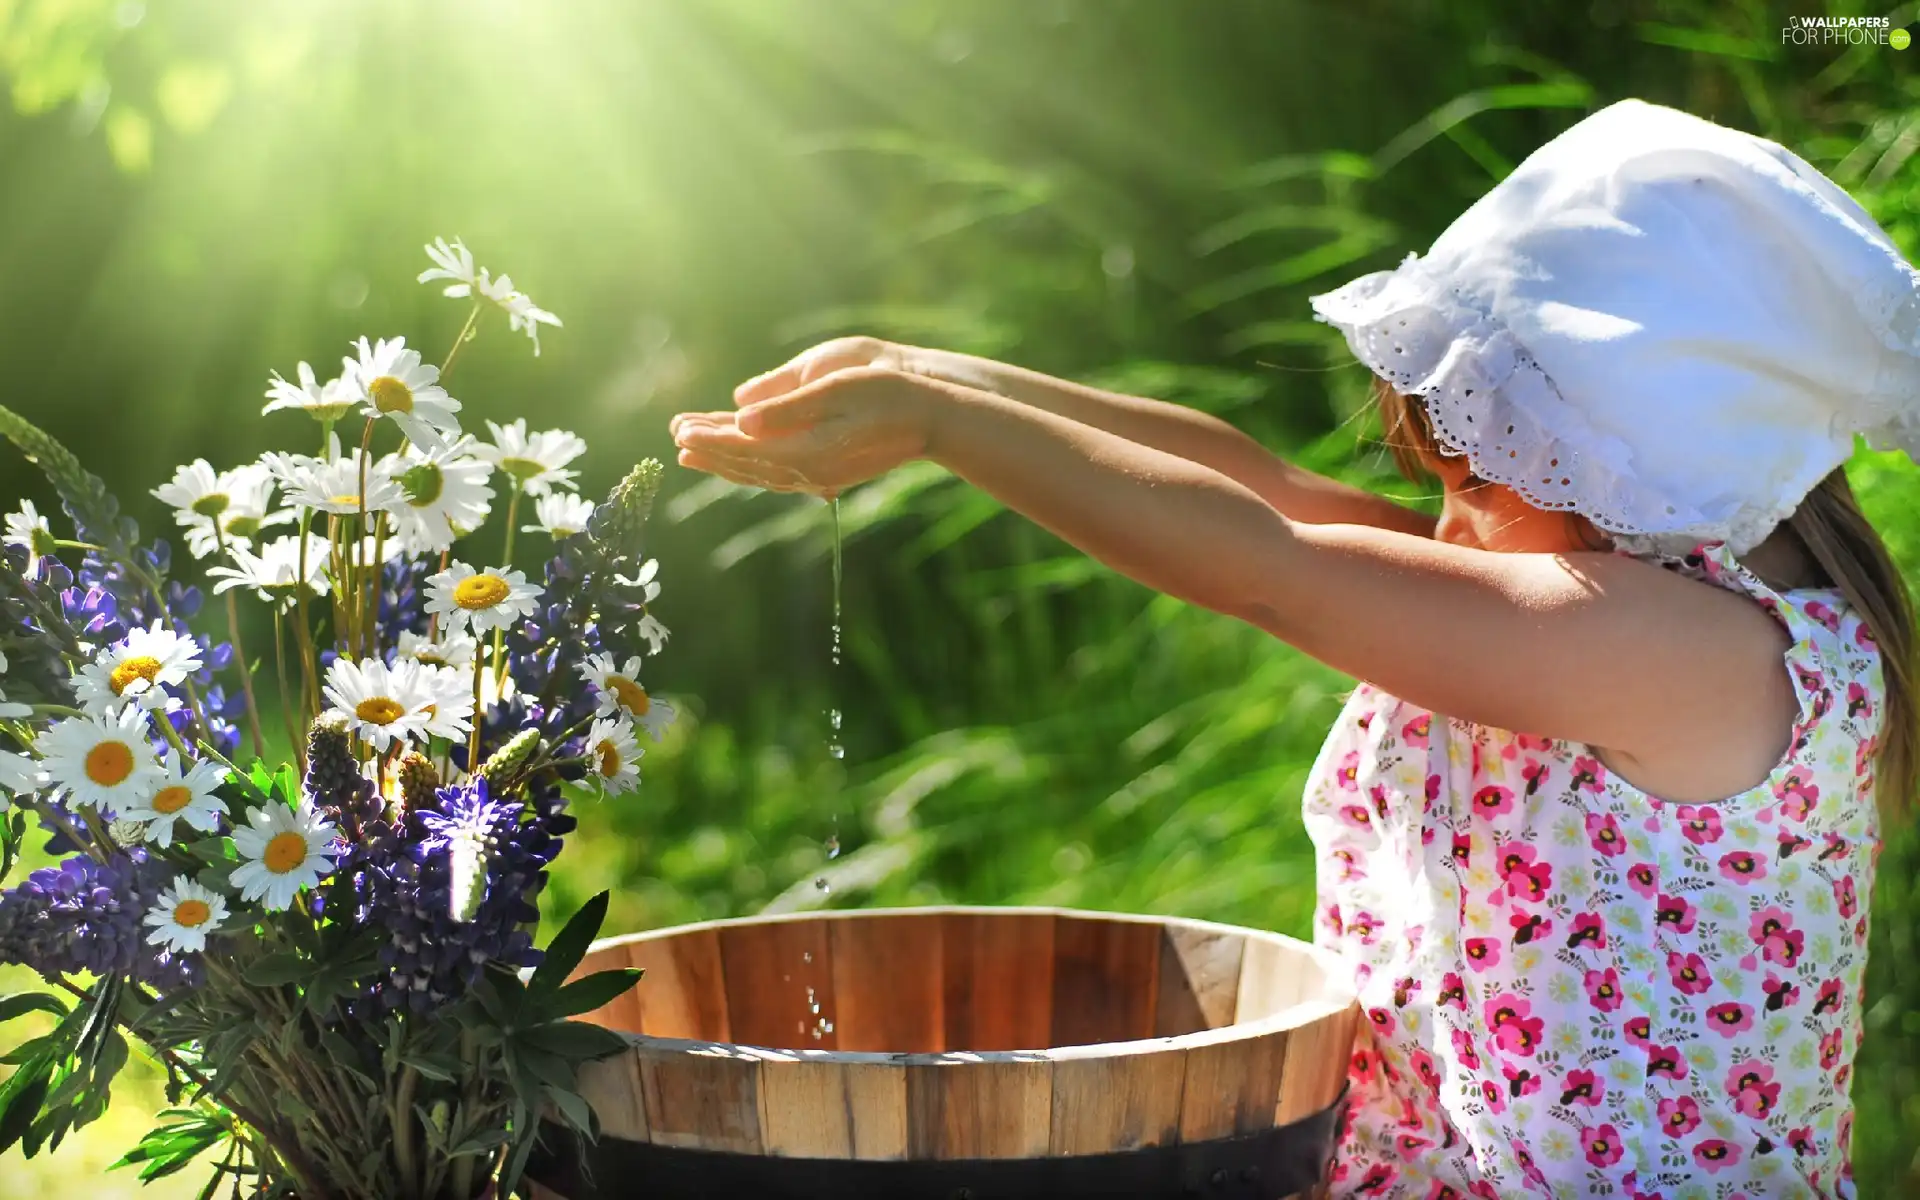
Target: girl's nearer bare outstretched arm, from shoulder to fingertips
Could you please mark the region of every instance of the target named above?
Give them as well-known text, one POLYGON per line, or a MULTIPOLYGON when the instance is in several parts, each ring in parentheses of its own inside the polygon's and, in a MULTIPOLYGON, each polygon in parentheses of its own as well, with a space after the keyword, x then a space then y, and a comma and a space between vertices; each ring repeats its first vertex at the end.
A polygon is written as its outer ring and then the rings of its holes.
POLYGON ((816 493, 931 459, 1148 588, 1425 708, 1607 747, 1676 801, 1764 778, 1795 714, 1786 634, 1730 591, 1605 553, 1290 520, 1219 470, 945 380, 839 371, 680 417, 676 440, 687 467, 816 493))

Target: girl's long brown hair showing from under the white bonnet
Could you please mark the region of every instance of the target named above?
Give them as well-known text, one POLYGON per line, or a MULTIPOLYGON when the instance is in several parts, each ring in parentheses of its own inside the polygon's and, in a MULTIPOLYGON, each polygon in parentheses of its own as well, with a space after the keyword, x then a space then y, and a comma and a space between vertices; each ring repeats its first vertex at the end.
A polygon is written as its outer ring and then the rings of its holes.
MULTIPOLYGON (((1400 474, 1409 482, 1430 480, 1427 463, 1438 459, 1442 449, 1427 420, 1427 407, 1379 378, 1375 399, 1382 438, 1400 474)), ((1887 545, 1860 511, 1843 467, 1836 467, 1814 486, 1784 528, 1820 564, 1826 584, 1845 593, 1880 647, 1885 703, 1880 714, 1874 791, 1882 824, 1893 828, 1907 816, 1914 789, 1920 787, 1920 697, 1914 691, 1920 672, 1914 660, 1912 595, 1887 545)))

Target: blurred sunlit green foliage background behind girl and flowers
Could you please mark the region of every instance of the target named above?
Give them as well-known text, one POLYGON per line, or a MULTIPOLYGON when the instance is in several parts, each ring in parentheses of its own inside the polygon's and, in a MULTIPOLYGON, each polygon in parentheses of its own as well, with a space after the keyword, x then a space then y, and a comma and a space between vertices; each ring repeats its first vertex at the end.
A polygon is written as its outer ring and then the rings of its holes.
MULTIPOLYGON (((257 417, 269 369, 326 371, 359 334, 444 348, 463 311, 411 276, 459 234, 566 321, 538 361, 486 330, 468 424, 576 428, 591 490, 670 461, 672 413, 839 332, 1192 403, 1404 490, 1306 296, 1425 248, 1605 102, 1780 138, 1920 257, 1920 48, 1780 44, 1818 10, 0 0, 0 399, 159 532, 146 490, 177 463, 305 447, 298 417, 257 417)), ((1855 480, 1920 578, 1916 470, 1862 455, 1855 480)), ((17 459, 15 493, 52 499, 17 459)), ((614 887, 609 927, 962 900, 1308 931, 1296 810, 1334 672, 937 470, 843 501, 835 672, 820 503, 670 470, 662 515, 674 637, 649 684, 684 720, 637 797, 584 814, 549 920, 614 887)), ((1916 872, 1907 831, 1874 910, 1864 1196, 1920 1188, 1916 872)), ((131 1194, 98 1167, 142 1117, 0 1158, 0 1192, 131 1194)))

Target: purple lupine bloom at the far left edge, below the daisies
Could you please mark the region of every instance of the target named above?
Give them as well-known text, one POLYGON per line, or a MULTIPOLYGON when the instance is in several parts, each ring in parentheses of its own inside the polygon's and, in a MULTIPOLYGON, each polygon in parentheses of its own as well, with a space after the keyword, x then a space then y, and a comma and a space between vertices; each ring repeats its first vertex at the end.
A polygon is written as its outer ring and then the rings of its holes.
POLYGON ((48 981, 90 972, 132 975, 161 991, 198 979, 198 956, 146 945, 140 920, 159 900, 171 868, 146 851, 106 862, 73 854, 0 893, 0 962, 17 962, 48 981))

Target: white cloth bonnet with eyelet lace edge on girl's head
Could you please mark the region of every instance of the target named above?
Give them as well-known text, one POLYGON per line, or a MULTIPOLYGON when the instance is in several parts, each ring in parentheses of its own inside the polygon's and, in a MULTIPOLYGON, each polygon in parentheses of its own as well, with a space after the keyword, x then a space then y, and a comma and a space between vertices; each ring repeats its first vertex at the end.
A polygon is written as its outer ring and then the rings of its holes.
POLYGON ((1753 549, 1855 434, 1920 459, 1920 273, 1786 148, 1670 108, 1594 113, 1311 303, 1442 449, 1636 553, 1753 549))

